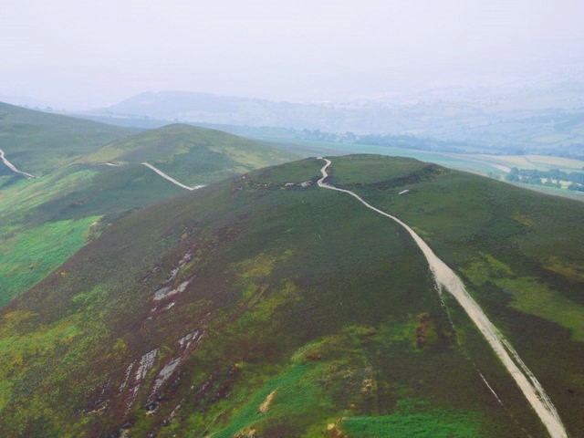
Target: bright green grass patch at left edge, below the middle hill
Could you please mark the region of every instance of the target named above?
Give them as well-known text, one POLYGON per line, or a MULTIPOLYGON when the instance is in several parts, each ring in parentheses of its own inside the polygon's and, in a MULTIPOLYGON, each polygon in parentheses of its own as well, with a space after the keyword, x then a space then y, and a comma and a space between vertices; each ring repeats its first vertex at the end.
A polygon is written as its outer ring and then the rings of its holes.
POLYGON ((0 305, 25 292, 87 243, 100 216, 51 222, 8 238, 0 245, 0 305))

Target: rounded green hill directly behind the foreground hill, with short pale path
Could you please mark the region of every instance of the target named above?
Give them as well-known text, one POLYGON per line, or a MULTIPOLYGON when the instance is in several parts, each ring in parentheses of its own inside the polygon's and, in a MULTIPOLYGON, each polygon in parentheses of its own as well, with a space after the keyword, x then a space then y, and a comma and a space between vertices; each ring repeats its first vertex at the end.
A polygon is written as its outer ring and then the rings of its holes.
MULTIPOLYGON (((53 118, 39 117, 45 116, 53 118)), ((57 117, 59 126, 68 123, 79 128, 76 120, 67 119, 57 117)), ((61 132, 57 128, 52 128, 55 141, 61 132)), ((78 130, 76 135, 89 138, 90 132, 78 130)), ((0 127, 0 136, 16 144, 24 134, 14 135, 0 127)), ((29 140, 25 143, 36 144, 29 140)), ((52 152, 53 157, 60 157, 55 163, 70 164, 36 179, 26 180, 14 173, 0 178, 0 306, 47 276, 117 218, 185 192, 141 165, 142 161, 159 166, 182 183, 196 185, 293 157, 219 131, 179 125, 131 135, 69 159, 65 151, 87 148, 68 143, 74 140, 64 136, 63 149, 52 152), (104 164, 110 160, 120 165, 104 164)), ((30 163, 24 162, 23 168, 30 163)))

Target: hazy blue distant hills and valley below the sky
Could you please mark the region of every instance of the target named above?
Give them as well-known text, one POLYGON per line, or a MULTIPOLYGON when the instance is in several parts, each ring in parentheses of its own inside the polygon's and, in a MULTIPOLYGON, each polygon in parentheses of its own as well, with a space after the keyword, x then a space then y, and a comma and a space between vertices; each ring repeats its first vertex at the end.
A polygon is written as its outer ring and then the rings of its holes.
MULTIPOLYGON (((537 85, 537 84, 536 84, 537 85)), ((88 117, 174 120, 359 135, 410 135, 470 151, 584 157, 580 84, 428 90, 400 99, 292 103, 183 91, 146 92, 88 117), (460 146, 457 144, 457 146, 460 146)))

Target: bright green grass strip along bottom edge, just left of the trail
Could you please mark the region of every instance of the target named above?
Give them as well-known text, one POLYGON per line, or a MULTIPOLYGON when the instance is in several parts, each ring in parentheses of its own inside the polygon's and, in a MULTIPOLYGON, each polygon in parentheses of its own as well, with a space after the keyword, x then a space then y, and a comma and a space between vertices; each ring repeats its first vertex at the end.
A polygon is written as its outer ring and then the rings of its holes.
POLYGON ((474 413, 430 411, 352 417, 341 422, 349 438, 477 438, 482 436, 474 413))

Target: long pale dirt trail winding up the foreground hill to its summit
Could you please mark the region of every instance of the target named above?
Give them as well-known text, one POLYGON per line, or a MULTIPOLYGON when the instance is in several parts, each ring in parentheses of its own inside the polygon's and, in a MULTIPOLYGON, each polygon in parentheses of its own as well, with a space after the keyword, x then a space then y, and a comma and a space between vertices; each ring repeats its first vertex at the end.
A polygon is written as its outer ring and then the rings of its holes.
POLYGON ((536 376, 534 376, 531 370, 527 368, 527 365, 521 360, 513 346, 505 339, 501 332, 495 328, 495 325, 489 320, 489 318, 487 318, 483 309, 476 303, 476 301, 474 301, 474 298, 468 294, 464 288, 463 282, 458 276, 456 276, 456 274, 454 274, 454 271, 433 253, 430 246, 428 246, 422 238, 417 235, 410 226, 408 226, 408 224, 405 224, 397 217, 387 214, 370 205, 370 203, 364 201, 357 193, 345 189, 339 189, 338 187, 325 183, 324 181, 328 177, 327 169, 331 162, 326 158, 319 157, 318 159, 324 160, 325 162, 325 165, 320 169, 322 178, 318 180, 319 187, 350 194, 370 210, 389 217, 398 224, 401 224, 401 226, 412 235, 413 240, 420 247, 423 255, 428 261, 428 265, 430 266, 437 286, 440 287, 441 290, 447 290, 456 301, 458 301, 462 308, 464 308, 466 314, 473 320, 474 325, 481 331, 481 333, 483 333, 483 336, 495 351, 496 356, 501 362, 503 362, 506 370, 509 372, 513 380, 516 381, 517 386, 523 392, 531 407, 536 411, 541 422, 546 426, 549 435, 552 438, 567 438, 568 433, 566 433, 566 429, 559 418, 558 411, 556 411, 556 407, 547 396, 541 383, 537 381, 536 376))

